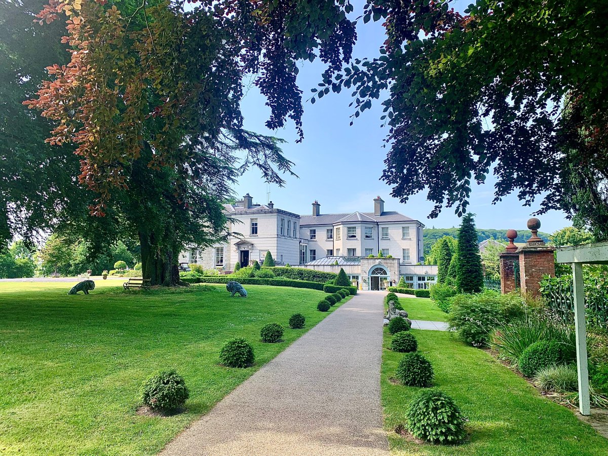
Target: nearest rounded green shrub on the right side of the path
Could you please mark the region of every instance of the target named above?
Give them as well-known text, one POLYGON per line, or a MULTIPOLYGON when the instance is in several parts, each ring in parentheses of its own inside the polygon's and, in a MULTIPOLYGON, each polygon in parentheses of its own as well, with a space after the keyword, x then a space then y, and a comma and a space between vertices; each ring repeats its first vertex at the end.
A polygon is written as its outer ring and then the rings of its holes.
POLYGON ((438 389, 422 390, 406 412, 407 428, 430 443, 457 444, 465 439, 465 417, 454 400, 438 389))

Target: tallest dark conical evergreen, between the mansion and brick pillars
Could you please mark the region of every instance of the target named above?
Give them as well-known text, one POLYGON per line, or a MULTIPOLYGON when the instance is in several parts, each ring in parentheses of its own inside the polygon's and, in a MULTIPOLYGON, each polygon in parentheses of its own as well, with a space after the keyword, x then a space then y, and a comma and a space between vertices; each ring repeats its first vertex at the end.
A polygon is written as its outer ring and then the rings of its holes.
POLYGON ((482 258, 479 255, 474 214, 462 218, 458 230, 458 266, 456 287, 464 293, 477 293, 483 289, 482 258))

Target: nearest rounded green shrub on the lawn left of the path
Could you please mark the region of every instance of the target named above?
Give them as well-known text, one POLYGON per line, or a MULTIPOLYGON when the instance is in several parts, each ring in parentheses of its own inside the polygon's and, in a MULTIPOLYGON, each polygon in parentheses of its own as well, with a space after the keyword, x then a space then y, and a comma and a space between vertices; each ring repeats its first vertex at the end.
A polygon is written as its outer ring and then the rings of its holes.
POLYGON ((184 406, 190 393, 175 370, 153 375, 142 384, 143 403, 153 410, 171 412, 184 406))

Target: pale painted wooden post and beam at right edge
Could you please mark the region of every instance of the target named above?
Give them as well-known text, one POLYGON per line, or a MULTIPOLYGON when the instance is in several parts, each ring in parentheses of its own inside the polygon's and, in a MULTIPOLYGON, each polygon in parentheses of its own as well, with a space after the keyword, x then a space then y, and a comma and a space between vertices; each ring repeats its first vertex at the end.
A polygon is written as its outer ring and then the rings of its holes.
POLYGON ((578 367, 578 409, 581 415, 589 415, 589 370, 587 369, 587 328, 582 265, 608 264, 608 242, 558 247, 557 252, 558 263, 572 263, 576 366, 578 367))

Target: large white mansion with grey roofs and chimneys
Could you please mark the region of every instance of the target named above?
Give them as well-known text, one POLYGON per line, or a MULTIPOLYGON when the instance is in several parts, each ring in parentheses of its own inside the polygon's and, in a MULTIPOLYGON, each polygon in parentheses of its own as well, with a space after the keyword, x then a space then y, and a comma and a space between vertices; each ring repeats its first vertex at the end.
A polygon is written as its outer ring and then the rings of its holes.
POLYGON ((277 266, 331 272, 344 268, 362 289, 384 289, 396 285, 401 276, 413 288, 427 288, 437 277, 437 266, 420 264, 424 225, 398 212, 385 212, 379 196, 373 212, 322 214, 315 201, 312 215, 297 215, 272 202, 254 204, 249 193, 224 208, 231 220, 227 229, 235 235, 204 250, 192 247, 181 252, 180 263, 230 272, 237 263, 261 264, 270 250, 277 266), (375 258, 367 258, 370 255, 375 258))

